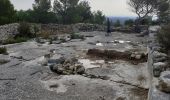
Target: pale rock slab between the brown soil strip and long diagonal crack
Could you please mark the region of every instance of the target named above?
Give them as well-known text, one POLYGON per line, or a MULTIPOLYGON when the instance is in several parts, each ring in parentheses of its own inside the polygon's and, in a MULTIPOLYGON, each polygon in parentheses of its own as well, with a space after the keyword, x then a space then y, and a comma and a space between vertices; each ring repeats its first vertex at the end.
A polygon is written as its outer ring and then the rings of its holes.
POLYGON ((94 76, 106 76, 111 81, 129 83, 146 89, 149 88, 146 63, 133 65, 125 61, 115 61, 109 65, 104 64, 101 67, 89 68, 86 70, 86 73, 94 76))

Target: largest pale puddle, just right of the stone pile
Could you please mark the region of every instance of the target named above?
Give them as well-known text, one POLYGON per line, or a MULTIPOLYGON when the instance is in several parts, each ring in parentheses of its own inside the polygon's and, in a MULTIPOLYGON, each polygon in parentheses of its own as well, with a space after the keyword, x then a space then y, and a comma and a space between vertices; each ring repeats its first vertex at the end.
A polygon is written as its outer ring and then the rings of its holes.
POLYGON ((104 64, 104 60, 91 61, 89 59, 79 59, 79 62, 83 64, 85 69, 101 67, 104 64))

